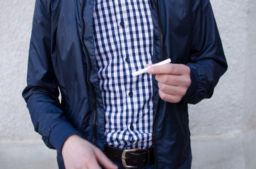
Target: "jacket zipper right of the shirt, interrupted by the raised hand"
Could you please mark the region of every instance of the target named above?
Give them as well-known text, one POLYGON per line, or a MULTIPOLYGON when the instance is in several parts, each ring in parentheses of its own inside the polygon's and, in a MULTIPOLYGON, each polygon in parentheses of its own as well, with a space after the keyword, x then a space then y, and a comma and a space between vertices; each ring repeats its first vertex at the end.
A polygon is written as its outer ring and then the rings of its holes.
MULTIPOLYGON (((160 45, 161 45, 161 61, 163 61, 163 30, 162 30, 162 26, 161 26, 161 20, 160 20, 160 13, 159 13, 159 10, 158 10, 158 4, 156 2, 156 0, 151 0, 153 1, 153 5, 155 6, 156 8, 156 15, 157 15, 157 20, 158 20, 158 27, 159 27, 159 33, 160 33, 160 45)), ((157 104, 156 104, 156 113, 158 112, 158 106, 159 106, 159 102, 160 102, 160 98, 158 97, 158 101, 157 101, 157 104)), ((152 137, 153 137, 153 145, 155 146, 155 149, 153 149, 154 151, 154 159, 155 159, 155 168, 157 168, 158 164, 157 164, 157 152, 156 152, 156 120, 157 120, 157 117, 156 117, 156 113, 155 113, 155 118, 153 119, 153 132, 152 132, 152 137)))

